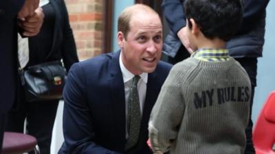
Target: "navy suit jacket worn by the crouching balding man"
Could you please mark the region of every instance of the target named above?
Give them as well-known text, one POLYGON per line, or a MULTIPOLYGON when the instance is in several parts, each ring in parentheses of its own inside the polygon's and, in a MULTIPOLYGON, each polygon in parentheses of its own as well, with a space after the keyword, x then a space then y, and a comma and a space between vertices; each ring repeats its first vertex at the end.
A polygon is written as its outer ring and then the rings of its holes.
POLYGON ((140 138, 133 149, 125 151, 125 96, 119 55, 120 51, 99 55, 69 70, 63 92, 65 142, 59 154, 152 153, 146 144, 148 119, 171 65, 159 62, 148 74, 140 138))

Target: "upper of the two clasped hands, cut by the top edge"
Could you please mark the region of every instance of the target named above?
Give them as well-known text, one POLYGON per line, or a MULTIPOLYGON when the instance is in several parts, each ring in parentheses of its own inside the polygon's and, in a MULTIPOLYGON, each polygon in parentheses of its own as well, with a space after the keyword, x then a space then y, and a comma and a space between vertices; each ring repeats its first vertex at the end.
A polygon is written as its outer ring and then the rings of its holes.
POLYGON ((25 0, 23 7, 18 13, 18 18, 24 21, 27 16, 33 16, 36 8, 39 8, 39 0, 25 0))

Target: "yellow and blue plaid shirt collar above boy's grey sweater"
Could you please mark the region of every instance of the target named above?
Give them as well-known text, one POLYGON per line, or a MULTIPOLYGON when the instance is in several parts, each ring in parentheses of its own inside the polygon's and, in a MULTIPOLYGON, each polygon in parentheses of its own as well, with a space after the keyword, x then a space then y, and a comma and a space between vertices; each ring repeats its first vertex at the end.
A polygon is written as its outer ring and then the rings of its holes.
POLYGON ((191 57, 205 62, 221 62, 230 58, 228 49, 198 49, 191 57))

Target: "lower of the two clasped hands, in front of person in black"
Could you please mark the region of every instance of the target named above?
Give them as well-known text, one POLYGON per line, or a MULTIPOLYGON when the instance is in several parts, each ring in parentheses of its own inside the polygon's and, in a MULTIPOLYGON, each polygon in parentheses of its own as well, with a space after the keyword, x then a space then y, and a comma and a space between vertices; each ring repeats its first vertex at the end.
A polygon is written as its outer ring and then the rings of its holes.
POLYGON ((36 36, 39 34, 44 21, 42 8, 37 8, 32 16, 27 16, 25 21, 19 21, 19 27, 23 29, 23 36, 36 36))

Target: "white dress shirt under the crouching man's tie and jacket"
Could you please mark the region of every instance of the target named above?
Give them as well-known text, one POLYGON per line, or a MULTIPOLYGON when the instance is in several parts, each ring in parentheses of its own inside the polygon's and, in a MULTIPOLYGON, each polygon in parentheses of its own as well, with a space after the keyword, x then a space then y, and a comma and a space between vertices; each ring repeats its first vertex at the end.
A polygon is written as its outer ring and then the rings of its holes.
MULTIPOLYGON (((130 88, 132 85, 132 80, 135 75, 131 73, 127 68, 124 66, 122 62, 122 55, 120 53, 120 70, 122 72, 122 77, 124 81, 124 92, 125 92, 125 111, 126 111, 126 123, 127 123, 127 115, 128 115, 128 100, 129 100, 129 94, 130 94, 130 88)), ((138 90, 138 96, 140 99, 140 112, 142 115, 145 97, 146 97, 146 90, 147 90, 147 81, 148 81, 148 73, 142 73, 140 75, 140 80, 137 82, 137 90, 138 90)), ((126 127, 126 138, 128 138, 128 130, 126 127)))

